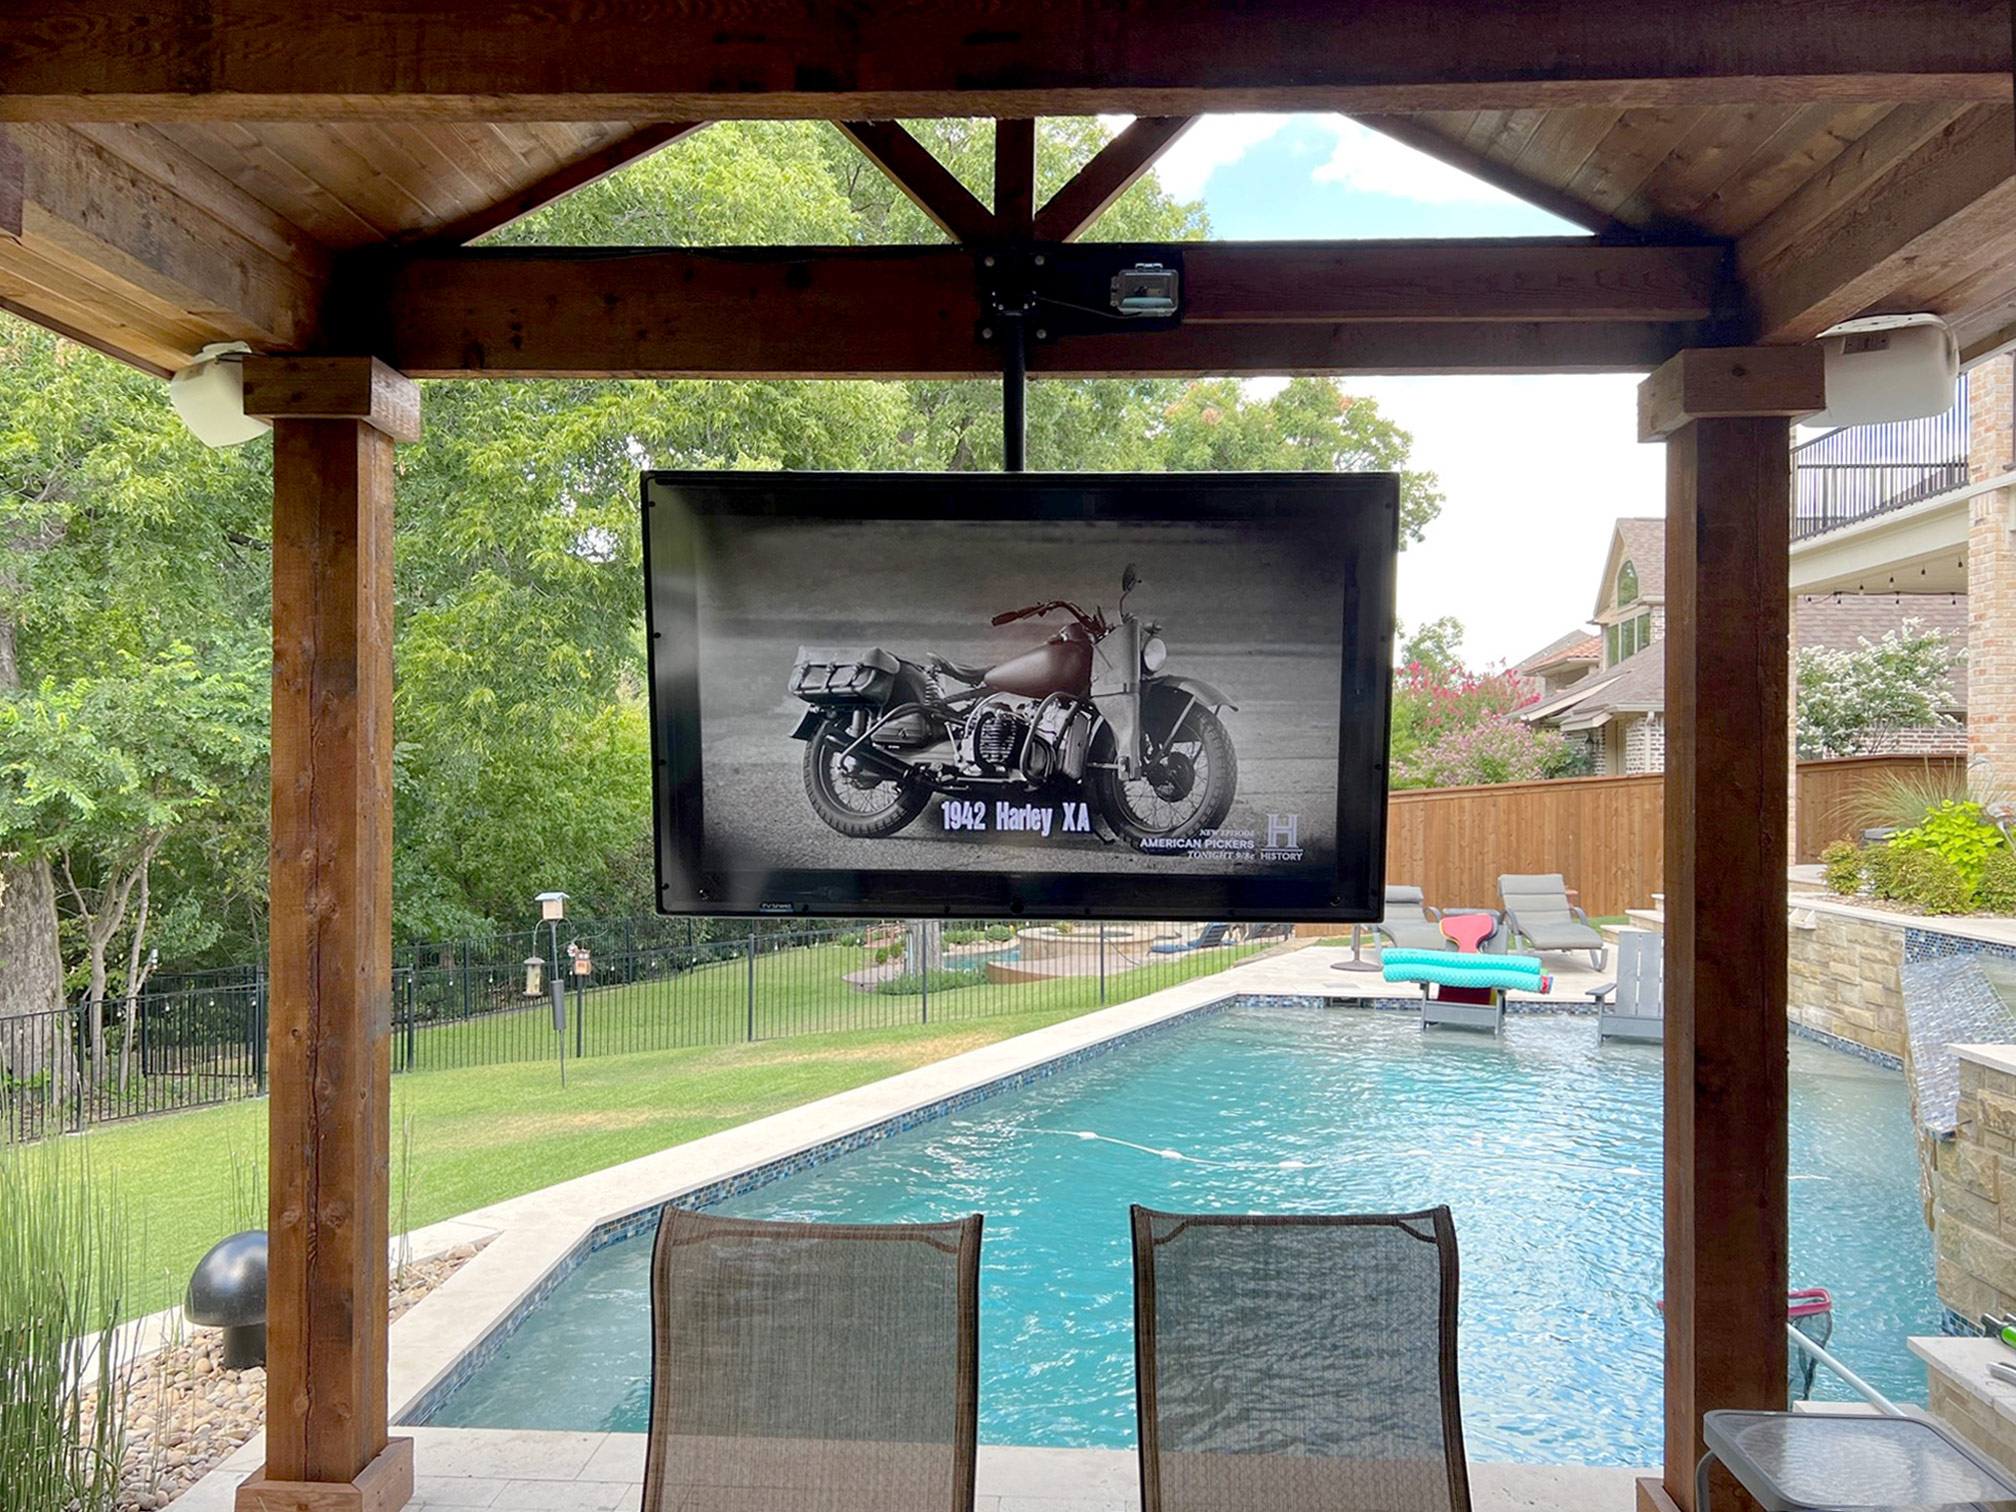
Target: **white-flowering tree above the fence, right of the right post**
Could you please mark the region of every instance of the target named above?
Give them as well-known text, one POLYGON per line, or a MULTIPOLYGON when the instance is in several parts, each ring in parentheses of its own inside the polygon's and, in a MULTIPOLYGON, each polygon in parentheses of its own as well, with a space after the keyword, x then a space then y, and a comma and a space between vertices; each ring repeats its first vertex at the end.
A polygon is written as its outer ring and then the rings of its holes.
POLYGON ((1859 637, 1853 651, 1802 647, 1798 653, 1798 754, 1853 756, 1885 730, 1951 726, 1939 708, 1964 653, 1939 631, 1907 619, 1881 641, 1859 637))

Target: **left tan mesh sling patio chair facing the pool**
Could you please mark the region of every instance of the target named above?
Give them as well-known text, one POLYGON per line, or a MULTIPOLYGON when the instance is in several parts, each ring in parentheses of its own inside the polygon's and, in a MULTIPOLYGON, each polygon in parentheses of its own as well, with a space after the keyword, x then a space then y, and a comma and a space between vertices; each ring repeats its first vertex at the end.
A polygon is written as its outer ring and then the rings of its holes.
POLYGON ((972 1512, 978 1399, 980 1214, 661 1216, 643 1512, 972 1512))

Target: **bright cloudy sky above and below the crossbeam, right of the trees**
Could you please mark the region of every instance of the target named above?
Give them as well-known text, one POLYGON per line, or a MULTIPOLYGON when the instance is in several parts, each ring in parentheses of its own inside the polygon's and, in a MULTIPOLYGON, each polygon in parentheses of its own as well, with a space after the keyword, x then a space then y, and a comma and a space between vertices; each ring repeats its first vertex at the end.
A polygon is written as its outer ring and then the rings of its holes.
MULTIPOLYGON (((1572 236, 1577 226, 1335 115, 1218 115, 1159 163, 1228 240, 1572 236)), ((1516 661, 1597 599, 1611 522, 1665 512, 1637 377, 1353 379, 1413 433, 1445 504, 1399 564, 1407 625, 1456 615, 1472 663, 1516 661)))

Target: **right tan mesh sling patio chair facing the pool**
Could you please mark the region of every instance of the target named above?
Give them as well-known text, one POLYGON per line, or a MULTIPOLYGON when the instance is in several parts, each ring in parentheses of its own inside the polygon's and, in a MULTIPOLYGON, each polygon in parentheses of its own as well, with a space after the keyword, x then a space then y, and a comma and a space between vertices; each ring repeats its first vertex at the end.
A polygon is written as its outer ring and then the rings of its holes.
POLYGON ((1143 1512, 1470 1512, 1447 1208, 1133 1242, 1143 1512))

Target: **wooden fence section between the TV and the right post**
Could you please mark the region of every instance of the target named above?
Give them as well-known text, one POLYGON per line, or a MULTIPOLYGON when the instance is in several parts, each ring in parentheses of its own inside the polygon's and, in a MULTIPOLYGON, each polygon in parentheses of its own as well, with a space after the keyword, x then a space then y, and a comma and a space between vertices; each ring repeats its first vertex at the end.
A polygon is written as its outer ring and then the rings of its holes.
POLYGON ((1558 871, 1591 915, 1665 891, 1665 778, 1419 788, 1387 802, 1387 881, 1435 907, 1498 907, 1508 871, 1558 871))

